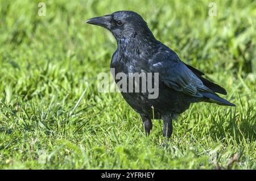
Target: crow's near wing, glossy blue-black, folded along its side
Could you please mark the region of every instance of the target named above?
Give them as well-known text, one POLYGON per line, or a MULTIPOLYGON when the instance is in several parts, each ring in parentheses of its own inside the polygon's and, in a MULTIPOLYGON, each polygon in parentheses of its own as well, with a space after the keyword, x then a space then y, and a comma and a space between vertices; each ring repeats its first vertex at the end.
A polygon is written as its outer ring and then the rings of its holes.
MULTIPOLYGON (((205 85, 198 77, 203 75, 199 70, 191 70, 186 66, 174 52, 159 54, 152 58, 151 71, 159 73, 160 81, 171 89, 183 92, 196 98, 207 98, 208 102, 217 103, 225 106, 235 106, 218 96, 214 90, 205 85)), ((208 80, 207 80, 208 81, 208 80)), ((209 81, 210 82, 210 81, 209 81)), ((212 82, 210 82, 212 83, 212 82)), ((209 83, 208 83, 209 84, 209 83)), ((210 84, 211 86, 214 86, 210 84)), ((216 87, 214 87, 216 89, 216 87)))

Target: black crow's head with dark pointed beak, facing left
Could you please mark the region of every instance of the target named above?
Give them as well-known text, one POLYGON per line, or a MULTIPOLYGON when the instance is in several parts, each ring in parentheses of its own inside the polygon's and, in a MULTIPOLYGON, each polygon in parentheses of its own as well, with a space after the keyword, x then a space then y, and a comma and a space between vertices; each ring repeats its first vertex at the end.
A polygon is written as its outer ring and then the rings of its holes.
POLYGON ((110 15, 88 19, 86 23, 108 29, 117 41, 136 36, 154 37, 142 16, 133 11, 117 11, 110 15))

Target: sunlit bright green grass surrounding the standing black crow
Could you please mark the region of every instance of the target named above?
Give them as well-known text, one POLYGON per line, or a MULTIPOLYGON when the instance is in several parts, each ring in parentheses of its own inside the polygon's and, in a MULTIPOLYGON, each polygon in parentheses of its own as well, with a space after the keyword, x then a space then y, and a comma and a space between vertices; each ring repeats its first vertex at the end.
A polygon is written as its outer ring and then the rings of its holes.
POLYGON ((214 1, 217 16, 212 1, 45 1, 46 16, 39 2, 0 0, 0 169, 256 168, 255 1, 214 1), (166 146, 162 121, 146 137, 121 94, 97 91, 117 45, 84 20, 117 10, 139 12, 237 107, 193 104, 166 146))

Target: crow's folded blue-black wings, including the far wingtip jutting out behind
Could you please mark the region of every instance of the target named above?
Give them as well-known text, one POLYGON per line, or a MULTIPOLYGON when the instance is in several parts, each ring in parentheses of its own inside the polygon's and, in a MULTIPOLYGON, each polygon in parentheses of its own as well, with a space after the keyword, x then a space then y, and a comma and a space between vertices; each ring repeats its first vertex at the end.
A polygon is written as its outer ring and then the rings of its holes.
POLYGON ((166 61, 165 58, 166 56, 164 56, 164 61, 154 64, 153 69, 155 72, 159 72, 160 79, 168 87, 189 96, 208 98, 208 102, 235 106, 215 93, 226 94, 226 91, 221 86, 203 78, 201 75, 204 75, 204 73, 180 60, 173 60, 174 56, 170 56, 170 61, 166 61))

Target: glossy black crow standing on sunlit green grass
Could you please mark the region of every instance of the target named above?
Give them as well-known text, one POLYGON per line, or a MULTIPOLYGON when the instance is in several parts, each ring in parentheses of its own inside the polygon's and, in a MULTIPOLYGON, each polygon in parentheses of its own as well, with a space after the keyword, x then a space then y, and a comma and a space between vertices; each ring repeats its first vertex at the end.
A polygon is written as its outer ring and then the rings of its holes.
MULTIPOLYGON (((163 136, 170 137, 172 119, 187 110, 191 103, 235 106, 216 94, 226 95, 224 88, 202 77, 204 73, 182 62, 174 50, 156 40, 136 12, 117 11, 86 23, 108 29, 117 40, 117 50, 110 64, 115 75, 159 73, 158 98, 148 99, 148 92, 121 92, 126 102, 141 115, 147 135, 152 129, 151 119, 155 118, 163 119, 163 136)), ((116 83, 118 81, 115 79, 116 83)))

